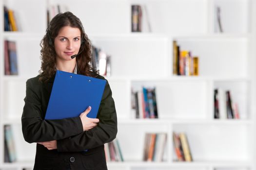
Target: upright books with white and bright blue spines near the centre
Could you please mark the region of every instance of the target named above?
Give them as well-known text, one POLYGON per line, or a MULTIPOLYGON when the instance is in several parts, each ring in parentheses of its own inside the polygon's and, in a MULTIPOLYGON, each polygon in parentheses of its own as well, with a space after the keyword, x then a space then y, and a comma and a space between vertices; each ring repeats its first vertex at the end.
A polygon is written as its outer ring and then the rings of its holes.
POLYGON ((132 108, 137 119, 158 118, 156 88, 142 87, 142 91, 132 92, 132 108))

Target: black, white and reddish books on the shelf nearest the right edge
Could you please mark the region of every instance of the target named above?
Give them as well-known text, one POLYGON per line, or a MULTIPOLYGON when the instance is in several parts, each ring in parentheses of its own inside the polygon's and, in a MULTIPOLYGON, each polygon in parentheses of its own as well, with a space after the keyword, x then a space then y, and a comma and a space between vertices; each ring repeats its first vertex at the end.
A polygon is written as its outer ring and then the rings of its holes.
POLYGON ((214 118, 239 119, 238 104, 233 102, 230 90, 214 90, 214 118))

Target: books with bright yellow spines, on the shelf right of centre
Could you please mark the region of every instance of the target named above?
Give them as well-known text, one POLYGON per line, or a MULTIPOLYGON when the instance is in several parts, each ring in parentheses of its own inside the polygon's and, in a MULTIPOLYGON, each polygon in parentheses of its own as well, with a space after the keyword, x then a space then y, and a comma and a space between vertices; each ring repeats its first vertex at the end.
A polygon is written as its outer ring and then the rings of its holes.
POLYGON ((173 74, 198 76, 199 58, 192 56, 191 51, 181 50, 177 41, 173 41, 173 74))

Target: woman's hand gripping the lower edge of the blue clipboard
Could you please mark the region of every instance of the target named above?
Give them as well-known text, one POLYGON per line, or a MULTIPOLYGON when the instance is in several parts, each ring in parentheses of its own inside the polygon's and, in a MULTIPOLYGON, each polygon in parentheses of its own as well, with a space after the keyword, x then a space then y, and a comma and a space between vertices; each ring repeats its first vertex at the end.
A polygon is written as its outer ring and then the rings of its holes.
POLYGON ((97 123, 99 122, 99 119, 93 119, 93 118, 88 118, 87 114, 91 111, 91 106, 89 106, 83 113, 80 114, 80 119, 82 121, 83 125, 83 131, 88 131, 95 126, 97 126, 97 123))

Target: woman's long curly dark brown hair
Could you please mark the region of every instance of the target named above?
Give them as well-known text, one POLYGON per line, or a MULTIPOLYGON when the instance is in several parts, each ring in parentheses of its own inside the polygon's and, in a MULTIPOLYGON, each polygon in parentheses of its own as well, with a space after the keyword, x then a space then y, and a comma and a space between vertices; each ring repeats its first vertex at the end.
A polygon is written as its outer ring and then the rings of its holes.
POLYGON ((46 34, 40 42, 40 59, 41 69, 39 70, 41 82, 47 82, 56 73, 56 51, 54 47, 54 39, 59 34, 62 27, 70 26, 79 28, 81 32, 81 46, 77 55, 77 71, 78 74, 95 76, 98 71, 91 67, 91 42, 84 32, 82 23, 78 17, 71 12, 59 13, 52 18, 46 29, 46 34))

